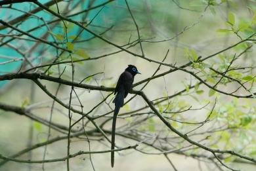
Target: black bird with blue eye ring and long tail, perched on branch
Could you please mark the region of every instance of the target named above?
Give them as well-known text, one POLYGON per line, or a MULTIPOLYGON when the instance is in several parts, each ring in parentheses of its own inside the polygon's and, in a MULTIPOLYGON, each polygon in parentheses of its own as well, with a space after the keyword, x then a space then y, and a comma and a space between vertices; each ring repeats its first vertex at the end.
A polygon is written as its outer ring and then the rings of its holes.
MULTIPOLYGON (((121 73, 115 93, 116 98, 113 100, 115 104, 113 123, 112 123, 112 138, 111 138, 111 149, 115 149, 115 132, 116 132, 116 117, 119 112, 120 107, 123 107, 123 101, 126 98, 128 92, 131 90, 133 86, 133 80, 135 75, 139 73, 137 67, 133 65, 128 65, 128 67, 121 73)), ((139 73, 140 74, 140 73, 139 73)), ((114 166, 114 151, 111 151, 111 166, 114 166)))

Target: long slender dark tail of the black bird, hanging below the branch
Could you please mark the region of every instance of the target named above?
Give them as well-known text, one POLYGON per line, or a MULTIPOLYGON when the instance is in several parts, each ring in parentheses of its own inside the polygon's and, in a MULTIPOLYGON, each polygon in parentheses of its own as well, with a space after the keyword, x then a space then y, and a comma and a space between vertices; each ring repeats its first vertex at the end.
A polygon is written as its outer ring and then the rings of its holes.
MULTIPOLYGON (((123 106, 123 100, 125 98, 125 92, 121 91, 116 94, 116 98, 113 103, 115 103, 116 107, 114 110, 113 121, 112 121, 112 137, 111 137, 111 150, 115 149, 115 135, 116 135, 116 118, 119 112, 120 107, 123 106)), ((114 167, 115 157, 114 151, 111 151, 111 166, 114 167)))

